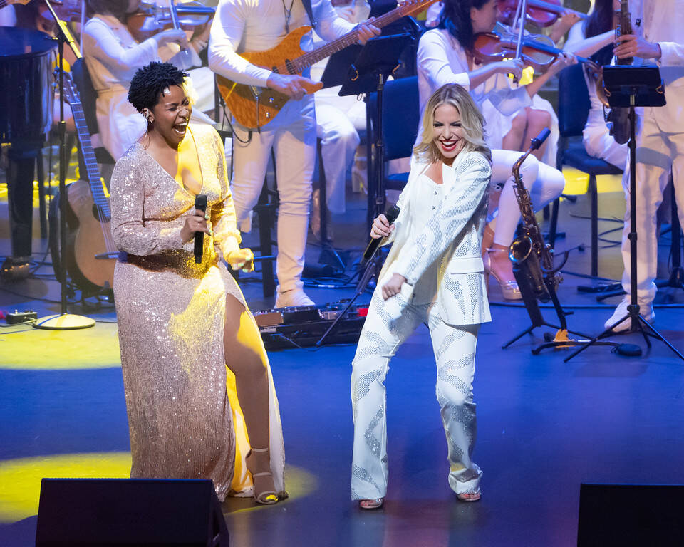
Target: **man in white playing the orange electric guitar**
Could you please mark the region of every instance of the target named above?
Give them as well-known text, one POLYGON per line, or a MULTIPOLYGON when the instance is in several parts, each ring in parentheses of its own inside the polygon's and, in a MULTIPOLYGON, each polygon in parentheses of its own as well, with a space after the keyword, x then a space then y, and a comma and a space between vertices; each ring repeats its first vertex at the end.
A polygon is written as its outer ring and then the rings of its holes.
MULTIPOLYGON (((326 41, 355 28, 337 16, 330 0, 312 0, 311 11, 316 33, 326 41)), ((214 72, 291 98, 268 125, 254 130, 234 123, 233 135, 231 189, 238 225, 257 204, 271 150, 275 151, 280 197, 276 307, 313 304, 301 282, 316 157, 314 97, 306 95, 303 85, 312 82, 308 71, 303 76, 274 73, 252 65, 240 53, 274 48, 289 31, 311 24, 302 0, 221 0, 209 39, 209 67, 214 72)), ((380 33, 369 24, 358 25, 358 30, 363 43, 380 33)), ((311 33, 302 38, 301 47, 311 51, 311 33)))

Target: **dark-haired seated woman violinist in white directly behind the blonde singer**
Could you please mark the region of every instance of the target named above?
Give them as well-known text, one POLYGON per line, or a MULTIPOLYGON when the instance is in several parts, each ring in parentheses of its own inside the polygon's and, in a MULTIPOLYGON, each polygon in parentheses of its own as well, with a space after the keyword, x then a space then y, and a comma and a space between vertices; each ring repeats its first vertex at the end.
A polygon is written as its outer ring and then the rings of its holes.
MULTIPOLYGON (((522 61, 498 61, 477 66, 470 53, 472 36, 478 32, 491 31, 497 22, 496 0, 447 0, 440 21, 440 28, 427 31, 418 43, 421 109, 440 85, 459 83, 470 90, 480 110, 482 103, 489 100, 501 113, 512 114, 531 105, 532 95, 537 93, 551 75, 569 63, 576 62, 572 56, 560 55, 549 70, 533 83, 512 88, 507 74, 514 73, 519 77, 522 73, 522 61)), ((501 135, 496 123, 490 125, 487 120, 484 129, 488 144, 490 141, 497 144, 501 142, 504 135, 501 135)), ((508 258, 508 246, 513 241, 520 218, 511 177, 512 167, 520 155, 520 152, 511 150, 492 150, 492 184, 505 183, 505 186, 499 198, 496 224, 487 226, 484 235, 485 266, 499 282, 504 298, 510 300, 522 298, 508 258)), ((538 162, 534 157, 525 160, 520 174, 532 196, 534 210, 539 210, 559 197, 565 185, 565 179, 559 170, 538 162)))

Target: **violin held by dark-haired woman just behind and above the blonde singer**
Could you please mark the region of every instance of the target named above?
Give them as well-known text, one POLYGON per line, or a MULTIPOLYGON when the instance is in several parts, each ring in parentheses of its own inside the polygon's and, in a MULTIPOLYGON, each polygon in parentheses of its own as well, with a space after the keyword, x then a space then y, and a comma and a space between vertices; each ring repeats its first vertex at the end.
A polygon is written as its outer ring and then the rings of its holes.
MULTIPOLYGON (((492 63, 514 58, 516 48, 517 38, 512 34, 481 32, 475 35, 472 54, 479 63, 492 63)), ((536 71, 544 71, 561 53, 564 51, 554 47, 548 36, 528 34, 522 38, 522 62, 532 66, 536 71)), ((587 63, 592 70, 598 70, 598 66, 591 59, 579 56, 576 58, 581 63, 587 63)))

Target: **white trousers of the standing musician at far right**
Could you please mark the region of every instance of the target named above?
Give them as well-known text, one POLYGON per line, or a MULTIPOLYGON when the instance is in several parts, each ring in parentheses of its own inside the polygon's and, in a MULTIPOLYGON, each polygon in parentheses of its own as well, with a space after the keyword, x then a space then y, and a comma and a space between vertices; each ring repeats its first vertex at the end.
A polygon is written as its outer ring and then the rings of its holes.
MULTIPOLYGON (((670 169, 675 186, 675 199, 680 223, 684 226, 684 132, 666 133, 660 130, 645 108, 638 118, 641 125, 636 135, 636 231, 637 262, 636 288, 640 301, 655 298, 655 276, 658 268, 658 234, 656 212, 663 201, 663 191, 668 184, 670 169)), ((630 232, 629 211, 629 165, 623 175, 623 188, 627 200, 625 226, 622 233, 622 258, 625 273, 622 286, 629 294, 630 275, 630 232)))

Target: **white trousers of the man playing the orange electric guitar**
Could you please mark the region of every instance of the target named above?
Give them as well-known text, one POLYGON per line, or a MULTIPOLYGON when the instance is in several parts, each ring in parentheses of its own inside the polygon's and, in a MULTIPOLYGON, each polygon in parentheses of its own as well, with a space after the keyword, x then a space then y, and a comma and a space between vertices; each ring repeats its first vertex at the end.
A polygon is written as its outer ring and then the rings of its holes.
POLYGON ((311 178, 316 160, 313 96, 290 101, 261 132, 234 124, 233 176, 230 188, 240 225, 259 200, 271 150, 275 153, 278 212, 276 271, 280 291, 301 288, 306 232, 309 228, 311 178))

